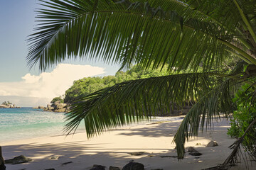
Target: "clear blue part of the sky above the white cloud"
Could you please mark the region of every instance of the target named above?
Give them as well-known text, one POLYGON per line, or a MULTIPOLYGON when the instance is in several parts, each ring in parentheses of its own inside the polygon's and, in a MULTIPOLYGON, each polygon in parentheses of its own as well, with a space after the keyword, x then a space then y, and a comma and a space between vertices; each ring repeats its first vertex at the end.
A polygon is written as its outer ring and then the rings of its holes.
MULTIPOLYGON (((38 0, 1 0, 0 6, 0 82, 21 81, 27 73, 41 74, 38 67, 31 70, 26 65, 28 35, 33 33, 36 25, 36 13, 39 8, 38 0)), ((90 64, 105 67, 105 74, 117 72, 117 66, 110 66, 102 62, 75 61, 73 64, 90 64)), ((51 72, 54 69, 47 70, 51 72)))

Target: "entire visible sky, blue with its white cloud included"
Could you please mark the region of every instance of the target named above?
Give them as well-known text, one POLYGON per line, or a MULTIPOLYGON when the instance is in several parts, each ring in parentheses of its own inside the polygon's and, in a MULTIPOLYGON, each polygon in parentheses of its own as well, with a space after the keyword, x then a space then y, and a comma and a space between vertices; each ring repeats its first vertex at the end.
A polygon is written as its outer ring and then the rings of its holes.
POLYGON ((117 66, 87 61, 65 61, 46 72, 38 67, 28 69, 26 39, 35 28, 34 11, 41 7, 38 3, 38 0, 1 0, 0 104, 12 101, 18 106, 46 105, 51 98, 65 94, 76 79, 114 75, 118 70, 117 66))

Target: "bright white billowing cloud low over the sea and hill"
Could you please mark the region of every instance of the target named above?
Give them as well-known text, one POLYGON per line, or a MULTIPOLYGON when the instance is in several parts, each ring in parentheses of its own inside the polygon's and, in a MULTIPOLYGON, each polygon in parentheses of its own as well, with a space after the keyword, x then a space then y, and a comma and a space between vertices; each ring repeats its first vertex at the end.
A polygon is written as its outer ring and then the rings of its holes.
POLYGON ((58 64, 52 72, 43 72, 38 76, 26 74, 22 81, 0 83, 0 96, 26 96, 33 98, 54 98, 65 94, 73 81, 83 77, 103 74, 101 67, 90 65, 58 64))

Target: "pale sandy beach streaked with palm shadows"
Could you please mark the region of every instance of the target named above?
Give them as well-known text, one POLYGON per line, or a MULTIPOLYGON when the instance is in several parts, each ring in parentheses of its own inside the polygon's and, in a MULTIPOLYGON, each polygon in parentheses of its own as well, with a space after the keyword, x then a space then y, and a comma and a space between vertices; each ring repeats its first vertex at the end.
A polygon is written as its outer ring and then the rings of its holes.
MULTIPOLYGON (((7 170, 39 170, 50 169, 90 169, 93 164, 106 166, 122 166, 130 160, 144 164, 150 169, 205 169, 223 163, 231 150, 228 149, 235 140, 226 135, 229 123, 222 120, 214 124, 213 130, 203 132, 199 137, 191 139, 186 147, 195 147, 201 152, 199 158, 186 153, 186 157, 178 161, 175 145, 172 143, 174 134, 181 119, 174 122, 147 123, 118 130, 105 132, 99 137, 87 140, 85 133, 75 135, 39 137, 29 140, 2 142, 4 159, 25 155, 33 159, 25 164, 6 164, 7 170), (206 147, 210 140, 218 142, 217 147, 206 147), (201 145, 196 145, 196 144, 201 145), (129 152, 144 152, 141 156, 131 156, 129 152), (52 157, 58 159, 51 159, 52 157), (62 165, 65 162, 70 164, 62 165)), ((232 169, 245 169, 244 164, 232 169)))

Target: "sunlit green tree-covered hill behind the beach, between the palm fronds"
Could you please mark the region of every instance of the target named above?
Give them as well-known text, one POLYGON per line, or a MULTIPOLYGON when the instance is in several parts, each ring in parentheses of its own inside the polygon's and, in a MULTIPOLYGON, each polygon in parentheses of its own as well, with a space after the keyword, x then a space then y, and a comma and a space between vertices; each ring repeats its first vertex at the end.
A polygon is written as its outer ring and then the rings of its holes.
MULTIPOLYGON (((74 81, 73 86, 65 91, 65 103, 74 103, 83 96, 92 94, 92 92, 99 91, 101 89, 114 86, 114 84, 121 83, 123 81, 130 81, 135 79, 144 79, 149 77, 160 77, 168 74, 167 66, 164 67, 161 72, 160 69, 147 69, 144 70, 140 67, 132 67, 127 72, 117 72, 115 76, 107 77, 87 77, 74 81)), ((53 103, 53 102, 51 102, 53 103)))

